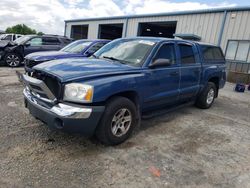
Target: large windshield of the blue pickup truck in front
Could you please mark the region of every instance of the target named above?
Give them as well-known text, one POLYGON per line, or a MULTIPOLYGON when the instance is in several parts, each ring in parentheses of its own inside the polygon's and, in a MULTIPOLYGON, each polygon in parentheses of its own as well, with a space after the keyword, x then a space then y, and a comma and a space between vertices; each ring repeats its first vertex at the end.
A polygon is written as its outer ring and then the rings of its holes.
POLYGON ((117 39, 98 50, 94 57, 141 66, 154 45, 155 42, 148 39, 117 39))

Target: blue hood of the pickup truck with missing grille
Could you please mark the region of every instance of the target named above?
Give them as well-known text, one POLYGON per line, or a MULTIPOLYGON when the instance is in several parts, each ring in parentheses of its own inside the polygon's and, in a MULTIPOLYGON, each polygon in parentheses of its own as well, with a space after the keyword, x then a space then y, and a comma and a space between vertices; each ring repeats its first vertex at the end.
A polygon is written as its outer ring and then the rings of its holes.
POLYGON ((36 71, 56 76, 61 82, 136 73, 139 69, 140 67, 124 65, 116 61, 87 58, 53 60, 34 67, 36 71))

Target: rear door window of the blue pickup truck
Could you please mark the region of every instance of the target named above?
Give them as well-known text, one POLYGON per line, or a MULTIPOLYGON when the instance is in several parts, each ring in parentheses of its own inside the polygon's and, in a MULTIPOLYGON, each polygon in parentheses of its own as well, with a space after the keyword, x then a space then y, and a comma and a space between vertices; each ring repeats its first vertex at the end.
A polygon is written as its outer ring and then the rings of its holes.
POLYGON ((193 47, 186 44, 179 44, 181 64, 194 64, 195 56, 193 47))

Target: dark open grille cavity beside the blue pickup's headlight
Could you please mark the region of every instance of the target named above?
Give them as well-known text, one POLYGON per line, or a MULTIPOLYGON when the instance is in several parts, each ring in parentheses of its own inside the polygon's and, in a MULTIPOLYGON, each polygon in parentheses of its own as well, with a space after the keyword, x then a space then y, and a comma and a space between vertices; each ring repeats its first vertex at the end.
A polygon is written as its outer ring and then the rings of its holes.
MULTIPOLYGON (((61 84, 55 77, 53 77, 51 75, 47 75, 47 74, 39 72, 39 71, 33 72, 32 77, 36 78, 36 79, 39 79, 39 80, 42 80, 45 83, 45 85, 49 88, 49 90, 52 92, 52 94, 57 99, 60 98, 61 84)), ((36 92, 39 91, 39 88, 34 88, 34 89, 36 89, 36 92)))

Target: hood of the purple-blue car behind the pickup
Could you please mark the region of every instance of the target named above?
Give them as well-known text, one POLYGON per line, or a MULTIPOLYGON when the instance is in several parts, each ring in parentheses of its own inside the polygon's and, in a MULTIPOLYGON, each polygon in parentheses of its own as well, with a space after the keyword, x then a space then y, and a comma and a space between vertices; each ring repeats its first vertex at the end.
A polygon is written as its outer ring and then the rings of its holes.
POLYGON ((25 58, 34 61, 49 61, 54 59, 61 58, 70 58, 70 57, 82 57, 82 54, 69 53, 63 51, 45 51, 45 52, 35 52, 27 55, 25 58))

